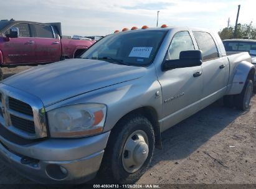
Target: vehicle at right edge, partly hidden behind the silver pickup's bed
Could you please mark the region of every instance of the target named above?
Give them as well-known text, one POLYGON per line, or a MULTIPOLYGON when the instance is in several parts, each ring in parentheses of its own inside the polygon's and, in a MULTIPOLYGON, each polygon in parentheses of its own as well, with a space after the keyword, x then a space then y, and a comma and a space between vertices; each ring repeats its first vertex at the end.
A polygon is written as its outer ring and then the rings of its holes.
MULTIPOLYGON (((223 44, 228 55, 240 52, 248 52, 252 57, 252 63, 256 66, 256 40, 226 39, 223 40, 223 44)), ((256 93, 256 76, 254 79, 254 93, 256 93)))

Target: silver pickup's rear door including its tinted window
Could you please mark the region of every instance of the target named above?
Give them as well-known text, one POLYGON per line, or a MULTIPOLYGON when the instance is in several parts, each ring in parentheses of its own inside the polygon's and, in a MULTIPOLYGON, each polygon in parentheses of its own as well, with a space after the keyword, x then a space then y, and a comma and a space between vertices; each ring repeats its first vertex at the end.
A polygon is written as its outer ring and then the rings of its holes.
POLYGON ((194 31, 199 50, 202 50, 202 107, 207 106, 220 97, 227 90, 229 79, 229 62, 226 57, 221 57, 216 42, 207 32, 194 31))

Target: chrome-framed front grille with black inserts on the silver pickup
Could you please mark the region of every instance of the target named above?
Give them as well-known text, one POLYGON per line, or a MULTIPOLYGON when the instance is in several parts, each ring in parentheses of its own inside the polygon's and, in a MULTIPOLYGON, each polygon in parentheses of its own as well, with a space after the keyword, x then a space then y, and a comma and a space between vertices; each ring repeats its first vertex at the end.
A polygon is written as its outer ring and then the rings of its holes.
POLYGON ((26 139, 47 136, 44 106, 39 98, 2 83, 0 97, 2 126, 26 139))

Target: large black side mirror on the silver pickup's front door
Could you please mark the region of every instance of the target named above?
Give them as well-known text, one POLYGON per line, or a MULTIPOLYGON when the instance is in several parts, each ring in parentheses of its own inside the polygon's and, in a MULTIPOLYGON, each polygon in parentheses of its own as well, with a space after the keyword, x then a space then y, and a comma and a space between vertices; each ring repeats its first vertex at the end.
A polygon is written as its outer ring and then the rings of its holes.
POLYGON ((202 65, 201 50, 186 50, 179 53, 177 60, 165 60, 163 63, 163 71, 175 68, 197 67, 202 65))

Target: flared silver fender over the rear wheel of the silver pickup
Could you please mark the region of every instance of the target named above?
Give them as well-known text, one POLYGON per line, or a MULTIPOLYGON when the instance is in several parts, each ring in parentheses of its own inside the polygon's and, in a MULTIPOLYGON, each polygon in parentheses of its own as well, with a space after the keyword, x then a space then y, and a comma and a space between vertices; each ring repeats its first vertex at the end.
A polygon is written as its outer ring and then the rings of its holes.
POLYGON ((234 69, 234 77, 227 94, 240 94, 244 88, 245 81, 249 77, 254 82, 255 66, 247 61, 240 62, 234 69))

